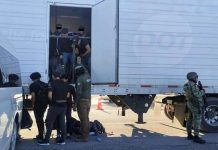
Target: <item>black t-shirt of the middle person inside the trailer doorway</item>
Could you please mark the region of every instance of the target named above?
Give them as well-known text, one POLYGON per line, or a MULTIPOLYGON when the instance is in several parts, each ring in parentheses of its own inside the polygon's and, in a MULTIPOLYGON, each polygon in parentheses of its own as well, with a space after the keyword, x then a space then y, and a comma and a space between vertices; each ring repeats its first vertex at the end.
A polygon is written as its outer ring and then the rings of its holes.
POLYGON ((59 38, 60 50, 61 52, 72 53, 72 40, 69 37, 61 37, 59 38))

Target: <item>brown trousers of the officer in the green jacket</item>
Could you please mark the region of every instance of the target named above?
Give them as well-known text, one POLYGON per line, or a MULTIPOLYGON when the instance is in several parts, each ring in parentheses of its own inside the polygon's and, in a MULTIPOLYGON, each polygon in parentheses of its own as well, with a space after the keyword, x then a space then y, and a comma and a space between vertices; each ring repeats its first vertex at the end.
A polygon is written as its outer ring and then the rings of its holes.
POLYGON ((82 138, 87 139, 89 137, 89 112, 91 107, 90 100, 79 100, 77 103, 77 113, 81 122, 82 138))

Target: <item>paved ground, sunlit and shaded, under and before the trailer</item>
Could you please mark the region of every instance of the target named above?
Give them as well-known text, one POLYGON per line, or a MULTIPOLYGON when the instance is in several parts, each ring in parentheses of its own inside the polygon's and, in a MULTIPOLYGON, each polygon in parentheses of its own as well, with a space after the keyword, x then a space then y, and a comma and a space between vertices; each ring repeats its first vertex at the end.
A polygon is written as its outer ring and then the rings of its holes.
MULTIPOLYGON (((107 136, 92 136, 88 143, 75 143, 73 139, 67 140, 64 146, 56 145, 51 141, 48 147, 38 146, 32 140, 36 134, 36 126, 33 125, 31 131, 22 130, 22 140, 17 144, 17 150, 156 150, 156 149, 176 149, 176 150, 217 150, 218 134, 202 134, 207 140, 207 144, 199 145, 187 141, 185 129, 177 127, 168 120, 163 111, 150 109, 144 116, 145 124, 136 124, 137 115, 131 111, 126 112, 126 116, 119 116, 119 109, 108 101, 103 101, 104 110, 96 110, 96 99, 93 100, 90 114, 91 120, 99 120, 105 126, 107 136)), ((77 117, 73 112, 73 116, 77 117)))

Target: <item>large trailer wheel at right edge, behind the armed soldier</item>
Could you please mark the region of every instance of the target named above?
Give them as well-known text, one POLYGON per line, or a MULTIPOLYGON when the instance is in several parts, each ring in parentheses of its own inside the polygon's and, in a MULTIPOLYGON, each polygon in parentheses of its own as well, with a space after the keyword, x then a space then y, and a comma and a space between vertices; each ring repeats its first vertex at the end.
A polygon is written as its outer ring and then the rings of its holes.
POLYGON ((203 111, 201 130, 204 132, 218 132, 218 98, 208 97, 208 106, 203 111))

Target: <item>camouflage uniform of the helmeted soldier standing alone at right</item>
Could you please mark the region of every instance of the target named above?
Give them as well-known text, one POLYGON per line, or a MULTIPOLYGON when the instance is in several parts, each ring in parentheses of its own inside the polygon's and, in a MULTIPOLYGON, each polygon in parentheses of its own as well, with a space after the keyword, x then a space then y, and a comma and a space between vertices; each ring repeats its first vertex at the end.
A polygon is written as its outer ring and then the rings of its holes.
POLYGON ((200 91, 193 81, 188 81, 184 85, 184 91, 188 107, 187 132, 191 133, 193 125, 194 135, 199 136, 204 92, 200 91))

